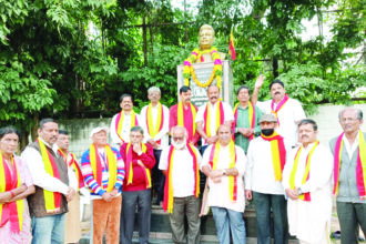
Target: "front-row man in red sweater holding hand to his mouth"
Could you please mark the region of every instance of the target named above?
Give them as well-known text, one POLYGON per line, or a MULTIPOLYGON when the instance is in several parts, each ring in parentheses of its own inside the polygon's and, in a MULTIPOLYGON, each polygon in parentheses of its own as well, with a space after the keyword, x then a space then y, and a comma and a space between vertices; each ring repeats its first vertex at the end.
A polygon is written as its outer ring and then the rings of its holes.
POLYGON ((123 182, 121 244, 132 244, 134 215, 139 210, 139 243, 148 244, 151 220, 151 169, 155 164, 153 148, 142 143, 143 130, 134 126, 130 132, 130 143, 121 146, 125 162, 126 177, 123 182))

